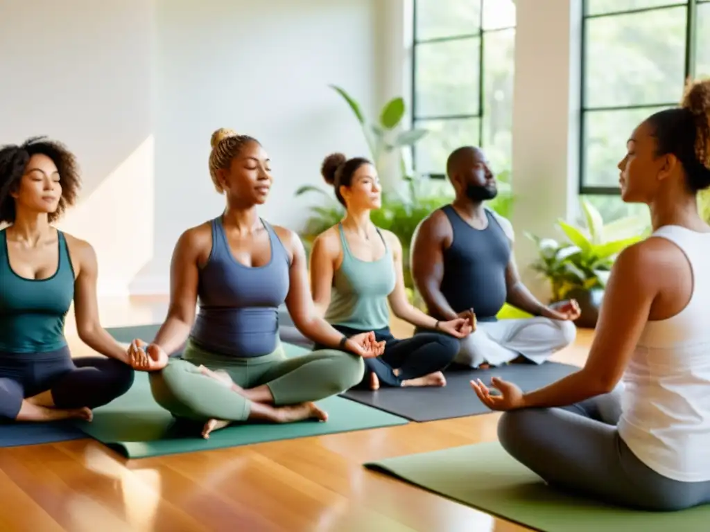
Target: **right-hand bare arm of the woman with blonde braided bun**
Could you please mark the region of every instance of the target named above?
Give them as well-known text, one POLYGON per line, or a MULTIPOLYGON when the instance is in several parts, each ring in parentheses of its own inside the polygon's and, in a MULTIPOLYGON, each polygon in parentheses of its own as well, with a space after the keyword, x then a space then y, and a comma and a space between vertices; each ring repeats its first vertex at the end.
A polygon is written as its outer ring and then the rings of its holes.
POLYGON ((345 345, 342 346, 341 342, 344 335, 332 328, 327 321, 318 315, 308 287, 307 262, 300 238, 288 229, 280 227, 275 227, 275 229, 278 231, 281 241, 288 246, 288 250, 292 255, 289 275, 290 288, 286 296, 286 308, 293 319, 293 324, 304 336, 315 343, 336 349, 344 347, 353 353, 360 353, 361 350, 351 340, 347 340, 345 345))

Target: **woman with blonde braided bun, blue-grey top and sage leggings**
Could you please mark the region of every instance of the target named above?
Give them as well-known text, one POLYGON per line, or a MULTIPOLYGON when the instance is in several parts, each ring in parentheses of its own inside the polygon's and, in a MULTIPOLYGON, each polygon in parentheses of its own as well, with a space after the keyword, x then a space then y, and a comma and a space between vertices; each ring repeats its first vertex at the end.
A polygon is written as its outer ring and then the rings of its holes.
POLYGON ((204 438, 234 421, 325 421, 312 401, 360 382, 362 358, 382 347, 373 333, 345 338, 315 314, 301 241, 256 212, 272 183, 261 144, 216 131, 209 174, 226 210, 180 236, 168 317, 151 345, 134 340, 129 353, 150 366, 189 336, 182 358, 151 372, 151 389, 175 417, 200 423, 204 438), (286 358, 278 336, 284 302, 298 330, 327 349, 286 358))

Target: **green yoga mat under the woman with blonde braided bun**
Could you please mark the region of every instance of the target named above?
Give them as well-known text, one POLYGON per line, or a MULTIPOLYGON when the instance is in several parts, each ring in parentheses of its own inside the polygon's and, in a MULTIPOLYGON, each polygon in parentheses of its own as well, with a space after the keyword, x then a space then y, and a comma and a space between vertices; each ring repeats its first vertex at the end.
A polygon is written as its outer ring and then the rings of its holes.
MULTIPOLYGON (((290 346, 290 351, 293 350, 290 346)), ((407 423, 400 417, 339 397, 329 397, 317 404, 327 411, 328 421, 229 426, 214 431, 204 440, 199 429, 186 434, 184 428, 175 425, 173 416, 153 400, 148 375, 139 372, 128 393, 94 410, 91 423, 75 423, 84 433, 127 458, 190 453, 407 423)))

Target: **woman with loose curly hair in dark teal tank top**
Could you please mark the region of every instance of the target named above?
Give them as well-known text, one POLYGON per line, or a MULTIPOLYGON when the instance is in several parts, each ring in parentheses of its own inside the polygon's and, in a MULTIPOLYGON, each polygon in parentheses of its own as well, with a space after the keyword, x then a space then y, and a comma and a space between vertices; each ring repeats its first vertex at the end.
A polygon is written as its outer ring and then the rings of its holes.
POLYGON ((32 138, 0 148, 0 423, 92 419, 128 391, 126 348, 99 323, 91 245, 52 226, 77 196, 74 155, 32 138), (64 336, 74 303, 80 338, 104 357, 72 360, 64 336))

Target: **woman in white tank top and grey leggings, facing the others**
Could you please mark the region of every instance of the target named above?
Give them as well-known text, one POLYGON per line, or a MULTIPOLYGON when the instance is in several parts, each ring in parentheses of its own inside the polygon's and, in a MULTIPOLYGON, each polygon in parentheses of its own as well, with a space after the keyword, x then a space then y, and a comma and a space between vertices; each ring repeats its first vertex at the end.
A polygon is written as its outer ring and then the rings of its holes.
POLYGON ((616 260, 589 358, 534 392, 493 378, 498 438, 551 485, 675 510, 710 502, 710 80, 633 131, 621 197, 650 208, 650 238, 616 260))

